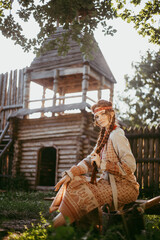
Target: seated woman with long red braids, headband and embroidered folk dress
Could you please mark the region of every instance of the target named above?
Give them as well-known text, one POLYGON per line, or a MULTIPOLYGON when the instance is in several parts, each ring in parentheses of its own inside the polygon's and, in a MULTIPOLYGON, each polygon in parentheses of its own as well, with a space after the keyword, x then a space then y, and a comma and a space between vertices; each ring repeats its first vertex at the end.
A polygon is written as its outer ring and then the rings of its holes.
POLYGON ((115 210, 133 202, 139 194, 139 184, 134 172, 136 162, 124 131, 115 124, 112 103, 99 100, 92 106, 95 123, 101 128, 93 152, 78 165, 66 171, 55 186, 56 195, 50 212, 59 209, 54 218, 55 227, 70 223, 107 204, 115 210), (84 176, 96 163, 101 177, 92 184, 84 176))

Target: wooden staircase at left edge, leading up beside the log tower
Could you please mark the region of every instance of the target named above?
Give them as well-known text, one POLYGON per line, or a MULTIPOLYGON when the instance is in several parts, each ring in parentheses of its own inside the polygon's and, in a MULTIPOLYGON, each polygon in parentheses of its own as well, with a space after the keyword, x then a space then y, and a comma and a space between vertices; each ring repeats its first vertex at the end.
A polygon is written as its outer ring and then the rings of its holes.
POLYGON ((6 123, 4 130, 0 131, 0 160, 12 144, 12 139, 8 133, 9 122, 6 123))

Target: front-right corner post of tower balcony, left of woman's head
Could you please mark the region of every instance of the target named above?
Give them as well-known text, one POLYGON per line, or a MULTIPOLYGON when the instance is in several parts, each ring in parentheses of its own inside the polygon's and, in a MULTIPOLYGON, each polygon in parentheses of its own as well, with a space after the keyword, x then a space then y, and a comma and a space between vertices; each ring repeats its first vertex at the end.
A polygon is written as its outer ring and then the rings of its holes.
POLYGON ((82 79, 82 102, 86 102, 87 90, 88 90, 88 80, 89 80, 89 65, 83 65, 83 79, 82 79))

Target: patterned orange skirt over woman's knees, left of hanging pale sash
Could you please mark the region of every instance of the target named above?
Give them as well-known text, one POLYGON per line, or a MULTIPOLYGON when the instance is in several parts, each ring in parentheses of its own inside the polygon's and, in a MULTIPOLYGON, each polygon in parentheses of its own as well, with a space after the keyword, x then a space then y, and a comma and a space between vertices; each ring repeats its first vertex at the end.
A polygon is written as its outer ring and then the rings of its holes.
POLYGON ((87 178, 76 176, 68 185, 59 210, 73 222, 105 203, 112 204, 112 189, 106 180, 94 185, 87 178))

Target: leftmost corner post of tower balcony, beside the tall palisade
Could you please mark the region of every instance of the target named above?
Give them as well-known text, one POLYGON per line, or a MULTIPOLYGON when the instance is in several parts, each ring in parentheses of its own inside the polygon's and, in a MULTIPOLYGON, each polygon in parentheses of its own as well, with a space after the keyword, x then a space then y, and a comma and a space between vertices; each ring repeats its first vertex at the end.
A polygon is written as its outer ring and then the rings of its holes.
POLYGON ((30 72, 27 71, 28 68, 25 69, 24 72, 24 99, 23 99, 23 108, 28 108, 28 100, 29 100, 29 91, 30 91, 30 72))

